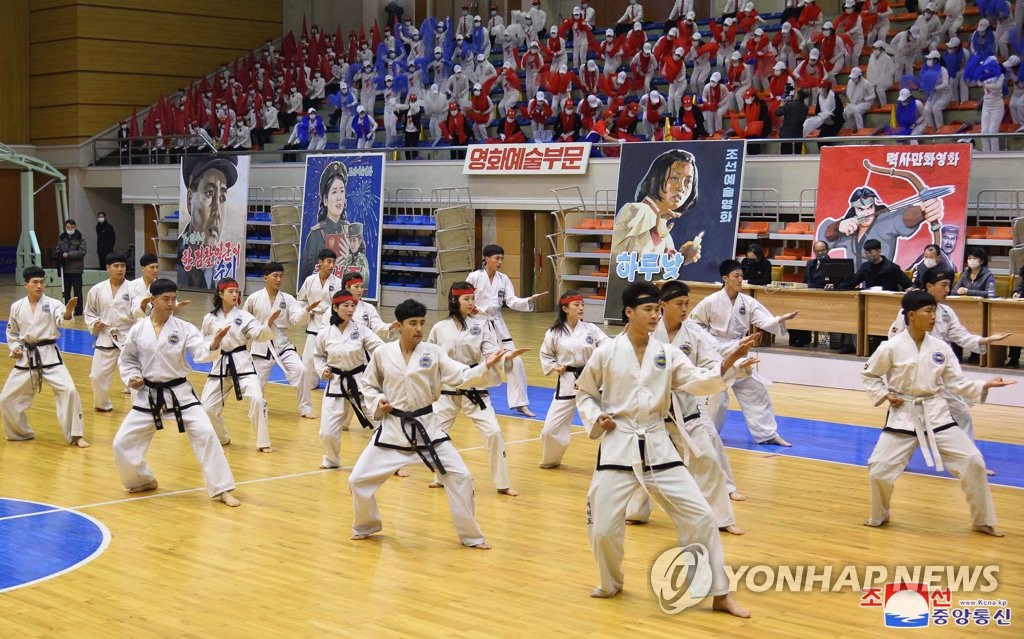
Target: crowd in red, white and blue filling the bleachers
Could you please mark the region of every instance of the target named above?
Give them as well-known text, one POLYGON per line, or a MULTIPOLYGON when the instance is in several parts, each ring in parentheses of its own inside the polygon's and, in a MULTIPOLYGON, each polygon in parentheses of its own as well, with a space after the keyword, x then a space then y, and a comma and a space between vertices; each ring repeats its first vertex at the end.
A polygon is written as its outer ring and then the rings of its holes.
MULTIPOLYGON (((678 0, 651 22, 635 0, 617 19, 584 1, 552 18, 535 0, 508 23, 464 7, 419 27, 375 22, 347 41, 303 23, 299 39, 161 98, 141 134, 160 156, 201 145, 200 129, 228 150, 286 151, 1024 129, 1024 7, 938 1, 845 0, 829 19, 815 0, 764 15, 726 0, 720 17, 696 20, 692 0, 678 0), (952 112, 980 122, 947 122, 952 112)), ((122 123, 123 154, 137 129, 122 123)))

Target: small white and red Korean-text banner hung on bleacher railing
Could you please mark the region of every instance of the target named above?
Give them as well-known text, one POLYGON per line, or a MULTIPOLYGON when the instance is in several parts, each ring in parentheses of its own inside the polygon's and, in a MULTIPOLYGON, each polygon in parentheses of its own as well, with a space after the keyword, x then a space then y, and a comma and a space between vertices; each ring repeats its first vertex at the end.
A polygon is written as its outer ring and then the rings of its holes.
POLYGON ((583 174, 590 142, 557 144, 470 144, 464 175, 583 174))

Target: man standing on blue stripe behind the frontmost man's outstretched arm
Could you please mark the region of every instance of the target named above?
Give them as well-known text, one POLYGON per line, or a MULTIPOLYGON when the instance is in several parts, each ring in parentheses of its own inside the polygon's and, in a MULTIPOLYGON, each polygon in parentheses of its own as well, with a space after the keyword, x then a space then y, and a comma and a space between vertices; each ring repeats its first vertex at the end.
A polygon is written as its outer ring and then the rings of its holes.
MULTIPOLYGON (((752 325, 778 337, 785 335, 785 322, 796 317, 798 311, 775 316, 764 307, 764 304, 741 293, 743 270, 736 260, 722 262, 719 272, 725 286, 721 291, 700 300, 690 312, 690 320, 711 333, 718 340, 720 349, 724 349, 723 352, 733 348, 736 340, 742 339, 750 333, 752 325)), ((750 429, 755 441, 787 446, 790 442, 778 434, 775 410, 768 396, 770 383, 754 373, 750 377, 736 380, 732 385, 732 392, 736 395, 746 428, 750 429)), ((715 428, 722 432, 726 412, 729 410, 728 393, 712 395, 708 400, 708 410, 715 428)))

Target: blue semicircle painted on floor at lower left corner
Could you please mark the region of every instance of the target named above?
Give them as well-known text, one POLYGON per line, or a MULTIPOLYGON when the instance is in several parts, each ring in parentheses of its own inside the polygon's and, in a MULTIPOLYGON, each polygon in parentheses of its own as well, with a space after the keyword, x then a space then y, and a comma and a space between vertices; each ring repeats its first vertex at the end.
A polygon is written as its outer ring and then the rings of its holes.
POLYGON ((0 498, 0 593, 85 565, 110 542, 111 531, 89 515, 0 498))

